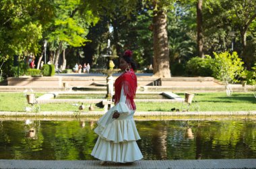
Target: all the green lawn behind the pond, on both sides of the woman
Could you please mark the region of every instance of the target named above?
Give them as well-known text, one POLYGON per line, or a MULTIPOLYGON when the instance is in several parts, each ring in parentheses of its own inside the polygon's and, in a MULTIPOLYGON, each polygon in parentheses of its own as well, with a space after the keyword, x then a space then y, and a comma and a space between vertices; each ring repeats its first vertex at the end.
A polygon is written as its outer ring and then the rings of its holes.
MULTIPOLYGON (((36 93, 39 97, 44 93, 36 93)), ((183 96, 183 93, 176 93, 183 96)), ((253 93, 232 93, 227 97, 226 93, 198 93, 195 101, 189 107, 189 111, 196 111, 197 105, 200 111, 256 111, 256 99, 253 93)), ((78 111, 81 103, 47 103, 40 104, 41 111, 78 111)), ((137 111, 170 111, 172 108, 180 109, 182 103, 136 103, 137 111)), ((25 111, 28 106, 24 93, 0 93, 0 111, 25 111)), ((89 107, 90 105, 85 105, 89 107)), ((95 111, 104 111, 94 106, 95 111)), ((185 107, 185 109, 187 109, 185 107)), ((85 110, 87 111, 87 109, 85 110)))

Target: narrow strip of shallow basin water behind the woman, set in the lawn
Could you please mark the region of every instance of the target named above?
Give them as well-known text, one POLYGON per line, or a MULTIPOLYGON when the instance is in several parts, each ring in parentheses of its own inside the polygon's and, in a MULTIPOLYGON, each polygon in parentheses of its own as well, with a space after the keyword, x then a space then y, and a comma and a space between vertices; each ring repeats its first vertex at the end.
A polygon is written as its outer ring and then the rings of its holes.
MULTIPOLYGON (((106 99, 106 94, 59 94, 55 99, 106 99)), ((161 94, 137 94, 135 99, 168 99, 161 94)))

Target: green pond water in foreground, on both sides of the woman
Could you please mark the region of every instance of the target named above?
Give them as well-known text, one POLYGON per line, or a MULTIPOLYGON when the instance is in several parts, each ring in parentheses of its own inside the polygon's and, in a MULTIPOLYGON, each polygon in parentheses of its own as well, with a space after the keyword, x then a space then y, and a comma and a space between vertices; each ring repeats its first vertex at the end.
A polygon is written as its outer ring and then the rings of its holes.
MULTIPOLYGON (((256 121, 135 121, 143 160, 256 158, 256 121)), ((1 121, 0 159, 95 160, 95 121, 1 121)))

